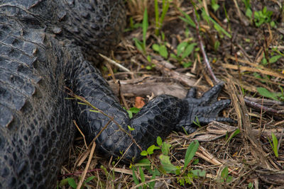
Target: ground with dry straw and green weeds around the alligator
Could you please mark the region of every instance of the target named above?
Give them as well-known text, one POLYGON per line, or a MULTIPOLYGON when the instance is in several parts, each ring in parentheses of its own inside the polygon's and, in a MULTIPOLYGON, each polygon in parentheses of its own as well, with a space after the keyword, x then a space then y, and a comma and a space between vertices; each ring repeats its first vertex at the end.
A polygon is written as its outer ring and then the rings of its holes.
POLYGON ((75 188, 83 177, 88 188, 281 188, 283 1, 168 2, 158 1, 157 12, 155 1, 126 1, 124 37, 109 57, 122 68, 106 60, 105 78, 127 109, 160 93, 182 98, 192 86, 203 93, 224 81, 219 99, 231 106, 222 116, 236 123, 173 132, 164 143, 158 139, 154 154, 148 149, 150 160, 131 166, 99 154, 87 162, 94 147, 77 137, 60 187, 75 188))

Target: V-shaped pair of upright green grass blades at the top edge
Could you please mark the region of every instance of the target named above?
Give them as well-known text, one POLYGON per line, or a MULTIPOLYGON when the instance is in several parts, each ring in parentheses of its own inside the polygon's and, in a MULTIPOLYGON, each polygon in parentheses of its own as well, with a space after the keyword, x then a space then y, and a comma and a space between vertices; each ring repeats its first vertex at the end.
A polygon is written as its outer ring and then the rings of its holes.
POLYGON ((168 12, 171 0, 162 1, 162 13, 160 15, 158 8, 158 0, 155 0, 155 35, 160 34, 160 28, 162 27, 163 21, 165 19, 165 13, 168 12))

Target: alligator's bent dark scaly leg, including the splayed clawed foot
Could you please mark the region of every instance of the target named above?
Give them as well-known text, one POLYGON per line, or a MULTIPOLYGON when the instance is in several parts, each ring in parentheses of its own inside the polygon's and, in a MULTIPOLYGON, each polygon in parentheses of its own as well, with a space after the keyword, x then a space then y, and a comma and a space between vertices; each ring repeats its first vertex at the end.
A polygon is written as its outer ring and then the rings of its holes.
POLYGON ((146 149, 155 143, 158 136, 165 138, 171 130, 181 130, 181 126, 185 127, 187 132, 193 132, 192 121, 196 117, 202 123, 213 120, 230 120, 217 117, 219 111, 230 103, 229 100, 217 101, 223 84, 214 86, 200 99, 195 98, 194 89, 183 100, 169 95, 157 96, 141 108, 140 112, 132 119, 129 119, 128 113, 119 104, 107 81, 89 62, 82 62, 80 69, 77 69, 75 86, 75 93, 78 96, 84 97, 89 103, 109 116, 90 111, 92 108, 88 105, 75 105, 77 122, 87 136, 87 141, 92 141, 99 131, 109 123, 107 129, 99 135, 96 141, 97 147, 106 156, 121 156, 126 152, 124 160, 138 159, 141 150, 136 144, 133 144, 133 140, 128 134, 121 131, 121 128, 129 132, 142 149, 146 149), (110 121, 109 118, 114 118, 115 121, 110 121), (129 130, 129 126, 134 130, 129 130), (129 147, 130 144, 131 147, 129 147))

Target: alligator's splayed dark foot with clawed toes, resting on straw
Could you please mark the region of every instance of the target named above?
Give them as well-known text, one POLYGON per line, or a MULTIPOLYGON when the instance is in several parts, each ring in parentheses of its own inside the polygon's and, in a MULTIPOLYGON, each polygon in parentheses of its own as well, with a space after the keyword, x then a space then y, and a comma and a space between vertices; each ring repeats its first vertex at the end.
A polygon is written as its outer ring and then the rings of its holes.
POLYGON ((196 89, 191 88, 186 98, 182 100, 183 103, 188 105, 188 111, 177 125, 177 130, 183 130, 183 127, 187 133, 195 132, 194 122, 198 122, 200 125, 207 125, 212 121, 234 122, 231 118, 218 117, 219 112, 231 103, 229 99, 217 101, 223 86, 224 82, 220 82, 205 92, 201 98, 196 98, 196 89))

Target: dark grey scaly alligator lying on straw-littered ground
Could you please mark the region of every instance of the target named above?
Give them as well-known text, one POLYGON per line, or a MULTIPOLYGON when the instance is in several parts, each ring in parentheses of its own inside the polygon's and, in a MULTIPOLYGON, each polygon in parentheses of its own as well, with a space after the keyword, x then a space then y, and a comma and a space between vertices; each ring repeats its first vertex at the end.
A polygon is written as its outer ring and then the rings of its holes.
POLYGON ((217 101, 222 83, 202 98, 195 88, 184 99, 157 96, 129 119, 96 68, 125 24, 123 0, 0 0, 0 188, 54 188, 72 120, 87 142, 107 125, 97 150, 126 161, 172 130, 194 132, 196 118, 231 121, 218 117, 230 103, 217 101), (103 113, 67 99, 66 87, 103 113))

